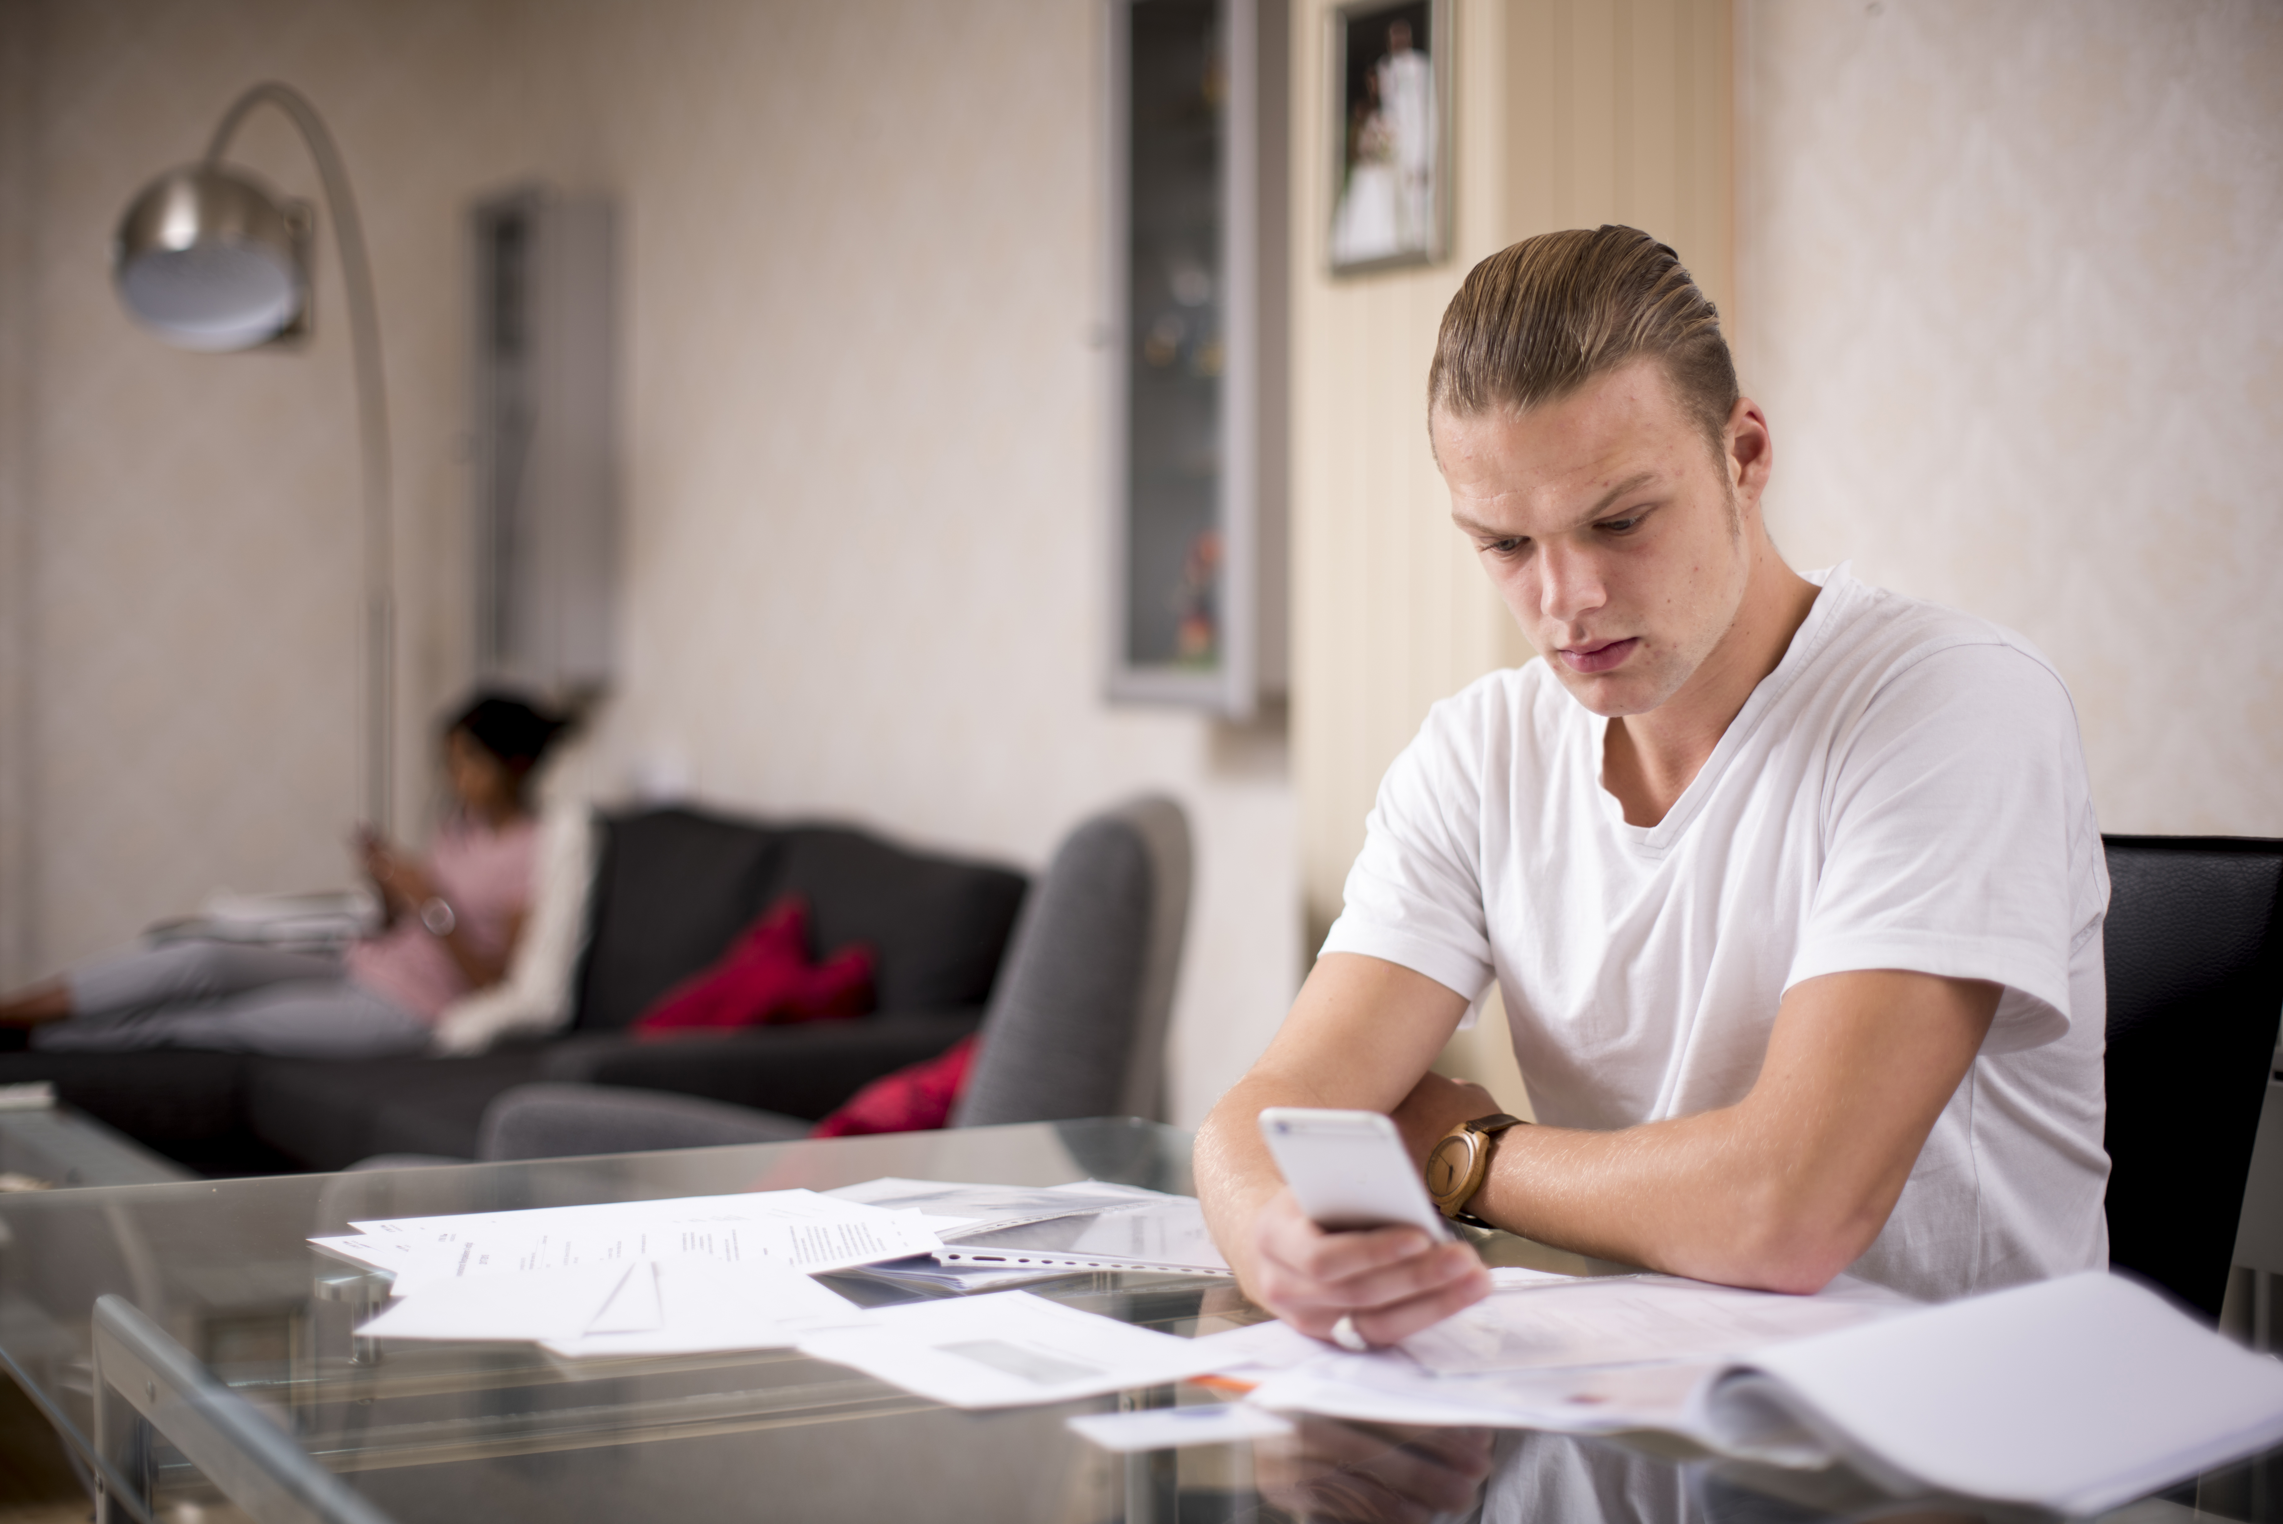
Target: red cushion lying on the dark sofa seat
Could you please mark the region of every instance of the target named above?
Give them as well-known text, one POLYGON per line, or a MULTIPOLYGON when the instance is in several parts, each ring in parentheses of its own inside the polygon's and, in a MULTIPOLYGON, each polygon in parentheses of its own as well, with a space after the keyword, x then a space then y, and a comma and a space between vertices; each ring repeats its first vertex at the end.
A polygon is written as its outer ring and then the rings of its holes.
POLYGON ((861 1017, 870 1008, 872 948, 858 941, 808 962, 808 905, 788 893, 710 969, 658 996, 635 1037, 861 1017))

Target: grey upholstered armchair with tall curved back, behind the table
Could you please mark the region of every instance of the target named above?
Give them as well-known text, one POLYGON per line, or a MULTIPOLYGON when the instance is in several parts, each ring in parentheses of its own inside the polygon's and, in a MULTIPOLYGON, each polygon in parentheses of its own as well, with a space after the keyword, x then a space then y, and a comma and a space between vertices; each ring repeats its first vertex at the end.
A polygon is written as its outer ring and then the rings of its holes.
MULTIPOLYGON (((1160 1115, 1164 1028, 1189 916, 1189 827, 1151 795, 1073 829, 991 989, 954 1126, 1160 1115)), ((810 1122, 621 1085, 521 1085, 484 1113, 482 1158, 779 1142, 810 1122)))

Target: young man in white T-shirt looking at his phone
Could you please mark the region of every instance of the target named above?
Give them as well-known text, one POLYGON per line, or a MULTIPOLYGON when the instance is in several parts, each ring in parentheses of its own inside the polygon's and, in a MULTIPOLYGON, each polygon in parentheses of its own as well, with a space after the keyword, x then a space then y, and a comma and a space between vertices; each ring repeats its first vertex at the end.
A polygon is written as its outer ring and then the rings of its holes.
POLYGON ((1393 1113, 1422 1161, 1450 1138, 1445 1211, 1701 1280, 1945 1298, 2107 1264, 2107 875, 2052 667, 1783 562, 1767 418, 1635 228, 1477 265, 1429 434, 1541 660, 1429 713, 1199 1136, 1244 1289, 1349 1348, 1489 1289, 1466 1245, 1315 1229, 1262 1106, 1393 1113), (1427 1069, 1493 978, 1539 1126, 1427 1069))

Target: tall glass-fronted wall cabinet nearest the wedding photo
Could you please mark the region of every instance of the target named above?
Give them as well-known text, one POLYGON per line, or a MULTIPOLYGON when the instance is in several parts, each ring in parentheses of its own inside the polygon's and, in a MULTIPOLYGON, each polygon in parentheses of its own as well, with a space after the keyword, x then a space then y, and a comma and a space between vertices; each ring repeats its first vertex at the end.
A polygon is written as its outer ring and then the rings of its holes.
POLYGON ((1283 0, 1107 0, 1110 697, 1285 690, 1283 0))

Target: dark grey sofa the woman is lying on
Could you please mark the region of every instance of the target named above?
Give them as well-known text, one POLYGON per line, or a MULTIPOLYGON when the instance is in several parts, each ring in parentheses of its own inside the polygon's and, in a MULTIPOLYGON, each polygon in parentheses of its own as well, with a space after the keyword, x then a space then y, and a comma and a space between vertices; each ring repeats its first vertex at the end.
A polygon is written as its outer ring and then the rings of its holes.
POLYGON ((913 852, 840 825, 692 809, 607 816, 571 1028, 470 1058, 0 1051, 0 1083, 64 1104, 205 1174, 340 1170, 372 1154, 473 1156, 484 1108, 532 1081, 639 1085, 822 1117, 863 1083, 975 1030, 1025 875, 913 852), (678 1042, 626 1028, 779 896, 810 907, 815 953, 874 948, 877 1010, 678 1042))

